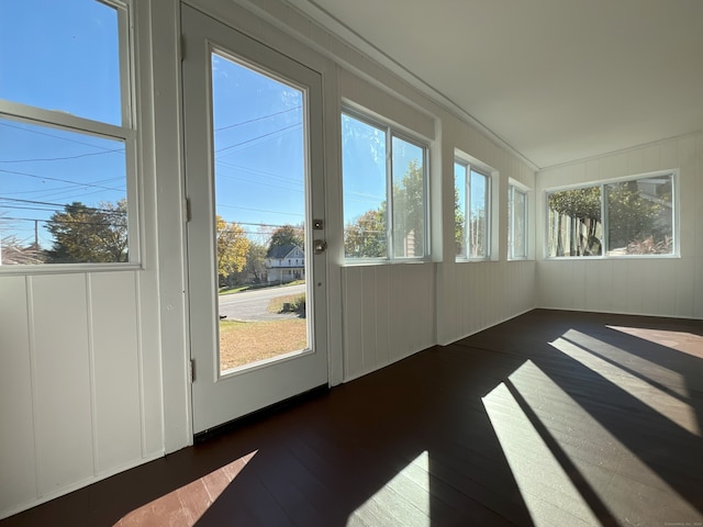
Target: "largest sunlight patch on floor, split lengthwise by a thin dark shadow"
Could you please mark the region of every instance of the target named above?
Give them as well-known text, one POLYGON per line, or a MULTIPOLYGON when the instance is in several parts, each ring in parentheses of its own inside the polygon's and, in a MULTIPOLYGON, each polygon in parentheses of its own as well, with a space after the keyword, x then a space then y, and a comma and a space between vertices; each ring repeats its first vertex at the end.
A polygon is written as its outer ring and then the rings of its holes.
POLYGON ((700 512, 638 452, 631 451, 532 361, 483 397, 483 405, 535 525, 577 525, 574 519, 600 525, 593 520, 593 511, 627 525, 700 520, 700 512), (623 472, 633 476, 617 475, 623 472), (652 518, 643 503, 667 506, 661 518, 652 518), (578 517, 562 520, 569 513, 578 517))

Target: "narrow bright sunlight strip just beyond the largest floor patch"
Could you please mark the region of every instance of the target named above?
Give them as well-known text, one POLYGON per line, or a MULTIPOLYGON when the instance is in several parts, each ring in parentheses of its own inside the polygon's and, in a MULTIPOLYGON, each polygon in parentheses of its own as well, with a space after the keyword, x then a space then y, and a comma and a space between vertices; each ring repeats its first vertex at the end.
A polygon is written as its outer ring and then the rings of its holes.
POLYGON ((669 395, 650 382, 600 358, 598 354, 578 346, 569 339, 559 337, 549 343, 549 345, 612 382, 621 390, 626 391, 637 401, 649 406, 677 426, 693 435, 701 435, 695 410, 690 404, 681 401, 681 399, 669 395))

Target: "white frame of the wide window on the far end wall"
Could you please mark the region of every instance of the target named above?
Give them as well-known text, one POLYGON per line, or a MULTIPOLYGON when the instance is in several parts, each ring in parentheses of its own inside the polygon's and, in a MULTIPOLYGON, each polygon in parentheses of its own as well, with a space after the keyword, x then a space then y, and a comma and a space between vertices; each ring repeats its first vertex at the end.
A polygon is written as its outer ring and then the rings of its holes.
POLYGON ((656 170, 652 172, 637 173, 632 176, 623 176, 618 178, 603 179, 599 181, 584 182, 578 184, 570 184, 563 187, 551 187, 545 189, 545 243, 544 243, 544 251, 545 259, 547 260, 622 260, 622 259, 668 259, 668 258, 680 258, 680 223, 679 223, 679 208, 680 208, 680 198, 679 198, 679 170, 678 169, 668 169, 668 170, 656 170), (607 192, 606 187, 609 184, 614 183, 623 183, 627 181, 638 181, 644 179, 657 178, 657 177, 670 177, 671 178, 671 253, 666 254, 625 254, 625 255, 615 255, 610 251, 610 217, 607 215, 607 192), (579 190, 579 189, 588 189, 588 188, 598 188, 600 191, 601 199, 601 228, 603 232, 603 236, 601 239, 602 251, 601 255, 593 256, 550 256, 549 255, 549 195, 555 192, 562 192, 568 190, 579 190))

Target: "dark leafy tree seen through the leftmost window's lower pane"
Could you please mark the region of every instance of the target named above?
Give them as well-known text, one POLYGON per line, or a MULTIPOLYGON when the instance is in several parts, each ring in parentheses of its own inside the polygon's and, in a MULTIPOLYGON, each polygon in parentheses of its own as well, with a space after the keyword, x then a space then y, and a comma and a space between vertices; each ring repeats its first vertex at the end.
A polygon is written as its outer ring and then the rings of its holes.
POLYGON ((126 199, 99 208, 76 201, 54 213, 46 228, 54 236, 46 251, 49 264, 127 261, 126 199))

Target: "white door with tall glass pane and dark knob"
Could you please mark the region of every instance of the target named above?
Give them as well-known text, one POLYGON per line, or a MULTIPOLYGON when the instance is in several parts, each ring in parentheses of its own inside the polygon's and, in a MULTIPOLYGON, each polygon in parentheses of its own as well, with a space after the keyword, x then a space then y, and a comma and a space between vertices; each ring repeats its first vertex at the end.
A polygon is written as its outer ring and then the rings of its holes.
POLYGON ((322 80, 188 5, 182 33, 198 434, 327 384, 322 80))

